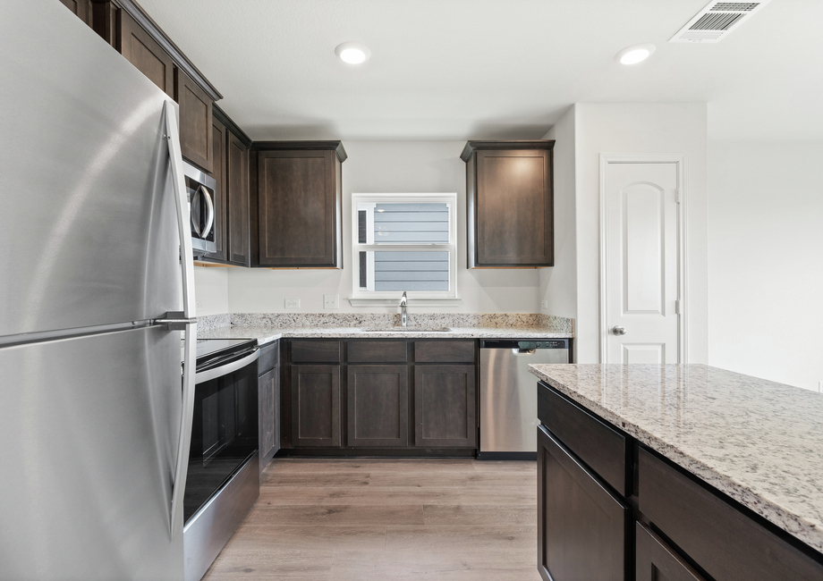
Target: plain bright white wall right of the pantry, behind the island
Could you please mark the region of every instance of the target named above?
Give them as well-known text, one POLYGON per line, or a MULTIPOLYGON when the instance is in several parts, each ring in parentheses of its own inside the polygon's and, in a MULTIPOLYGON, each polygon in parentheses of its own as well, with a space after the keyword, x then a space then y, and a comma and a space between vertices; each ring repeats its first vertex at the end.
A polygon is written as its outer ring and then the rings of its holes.
POLYGON ((823 381, 823 143, 709 144, 710 365, 823 381))

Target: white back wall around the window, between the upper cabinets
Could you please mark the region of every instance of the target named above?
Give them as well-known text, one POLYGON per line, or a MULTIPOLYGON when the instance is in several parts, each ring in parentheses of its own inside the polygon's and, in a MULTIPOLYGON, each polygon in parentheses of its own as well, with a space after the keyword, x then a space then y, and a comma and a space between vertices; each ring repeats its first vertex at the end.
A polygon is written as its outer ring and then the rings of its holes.
MULTIPOLYGON (((285 311, 285 299, 300 299, 300 311, 323 311, 323 295, 338 294, 340 311, 394 312, 393 307, 351 307, 352 192, 457 192, 457 294, 455 307, 436 312, 533 313, 539 308, 537 270, 466 268, 466 165, 464 141, 346 141, 343 164, 343 270, 232 268, 228 307, 233 313, 285 311)), ((399 300, 399 293, 398 293, 399 300)), ((292 309, 289 309, 292 310, 292 309)), ((411 307, 411 312, 422 312, 411 307)))

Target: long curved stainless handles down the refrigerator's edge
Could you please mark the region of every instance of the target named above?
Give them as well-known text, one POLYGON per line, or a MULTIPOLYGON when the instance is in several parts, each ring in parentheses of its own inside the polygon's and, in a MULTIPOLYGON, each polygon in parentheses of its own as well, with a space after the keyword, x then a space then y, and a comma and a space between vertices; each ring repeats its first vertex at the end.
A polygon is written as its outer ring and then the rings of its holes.
POLYGON ((194 311, 194 264, 191 252, 191 230, 189 229, 189 198, 186 193, 182 172, 182 151, 180 131, 177 125, 177 105, 165 101, 165 139, 168 141, 169 165, 171 167, 172 189, 177 207, 177 231, 180 235, 180 266, 182 271, 182 318, 187 319, 183 342, 182 362, 182 407, 180 432, 177 435, 177 465, 174 468, 174 484, 169 515, 169 530, 174 538, 182 532, 182 496, 185 490, 186 473, 189 467, 191 446, 191 423, 194 416, 194 370, 196 362, 197 319, 194 311))

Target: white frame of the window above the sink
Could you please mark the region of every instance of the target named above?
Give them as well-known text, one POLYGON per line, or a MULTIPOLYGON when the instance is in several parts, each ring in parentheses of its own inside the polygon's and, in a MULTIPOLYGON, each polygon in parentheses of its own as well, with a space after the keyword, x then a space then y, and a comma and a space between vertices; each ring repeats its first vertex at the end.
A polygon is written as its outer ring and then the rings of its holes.
MULTIPOLYGON (((352 193, 352 305, 369 306, 371 304, 392 304, 400 300, 402 291, 398 290, 363 290, 360 288, 360 252, 395 250, 431 252, 447 250, 449 252, 449 290, 408 290, 411 301, 459 300, 457 298, 457 193, 352 193), (358 241, 358 206, 361 204, 447 204, 449 206, 449 241, 447 244, 361 244, 358 241)), ((374 272, 371 272, 374 277, 374 272)))

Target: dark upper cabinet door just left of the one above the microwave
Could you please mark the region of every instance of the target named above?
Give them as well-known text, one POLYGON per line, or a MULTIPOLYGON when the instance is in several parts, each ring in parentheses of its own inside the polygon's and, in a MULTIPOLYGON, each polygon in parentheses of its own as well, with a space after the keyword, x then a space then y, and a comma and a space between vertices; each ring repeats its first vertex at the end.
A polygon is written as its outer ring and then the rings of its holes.
MULTIPOLYGON (((129 63, 148 77, 157 87, 163 89, 169 97, 174 97, 174 61, 163 48, 151 38, 144 29, 140 27, 134 19, 123 10, 119 12, 120 19, 120 54, 129 63)), ((100 30, 98 30, 100 32, 100 30)), ((105 38, 105 37, 104 37, 105 38)), ((185 75, 183 75, 185 76, 185 75)), ((192 83, 193 84, 193 83, 192 83)), ((180 103, 180 98, 177 98, 180 103)), ((182 155, 186 157, 186 146, 183 145, 184 119, 183 106, 180 107, 180 138, 182 155)), ((211 126, 211 111, 208 115, 209 127, 211 126)), ((194 160, 196 163, 196 160, 194 160)), ((210 172, 211 167, 204 167, 210 172)))

